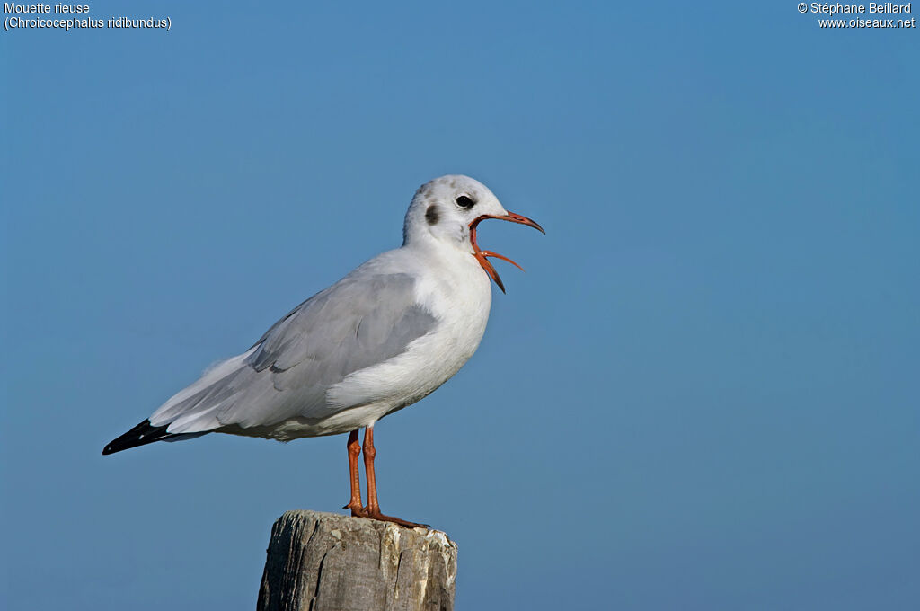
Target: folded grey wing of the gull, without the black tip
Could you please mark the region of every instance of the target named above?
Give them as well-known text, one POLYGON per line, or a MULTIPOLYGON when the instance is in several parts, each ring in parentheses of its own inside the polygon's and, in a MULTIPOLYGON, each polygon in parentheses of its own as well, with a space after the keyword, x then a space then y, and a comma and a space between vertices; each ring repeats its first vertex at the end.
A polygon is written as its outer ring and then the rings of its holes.
POLYGON ((405 352, 436 325, 415 302, 414 283, 402 273, 347 276, 294 308, 248 352, 215 368, 224 371, 204 375, 167 401, 150 421, 169 422, 169 432, 200 432, 338 412, 340 406, 327 403, 329 386, 405 352))

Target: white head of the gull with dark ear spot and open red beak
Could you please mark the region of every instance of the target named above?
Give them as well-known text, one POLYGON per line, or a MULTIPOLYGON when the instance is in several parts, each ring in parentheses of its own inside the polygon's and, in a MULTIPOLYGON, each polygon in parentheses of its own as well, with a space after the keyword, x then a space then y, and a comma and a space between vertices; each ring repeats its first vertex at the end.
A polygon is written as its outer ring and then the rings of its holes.
POLYGON ((505 210, 486 185, 468 176, 451 174, 426 182, 416 191, 406 213, 403 243, 435 239, 468 252, 504 293, 504 284, 498 271, 489 262, 489 257, 508 261, 520 270, 523 268, 512 259, 479 248, 476 241, 477 225, 486 219, 519 223, 546 234, 535 221, 505 210))

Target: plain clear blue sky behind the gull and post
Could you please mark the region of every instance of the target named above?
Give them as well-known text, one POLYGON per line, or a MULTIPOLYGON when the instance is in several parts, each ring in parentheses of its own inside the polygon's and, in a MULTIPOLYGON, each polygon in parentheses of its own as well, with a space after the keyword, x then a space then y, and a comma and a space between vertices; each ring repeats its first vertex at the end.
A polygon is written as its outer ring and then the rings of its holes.
POLYGON ((527 273, 497 263, 477 354, 376 429, 458 608, 918 604, 916 29, 189 4, 0 33, 8 608, 251 608, 271 523, 347 501, 344 437, 99 452, 445 173, 547 230, 483 225, 527 273))

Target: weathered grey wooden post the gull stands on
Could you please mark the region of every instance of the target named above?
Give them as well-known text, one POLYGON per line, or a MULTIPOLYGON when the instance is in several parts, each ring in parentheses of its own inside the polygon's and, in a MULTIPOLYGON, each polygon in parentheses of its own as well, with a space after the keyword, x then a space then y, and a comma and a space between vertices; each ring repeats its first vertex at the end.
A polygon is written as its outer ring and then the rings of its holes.
POLYGON ((457 547, 440 531, 338 513, 271 527, 259 611, 453 611, 457 547))

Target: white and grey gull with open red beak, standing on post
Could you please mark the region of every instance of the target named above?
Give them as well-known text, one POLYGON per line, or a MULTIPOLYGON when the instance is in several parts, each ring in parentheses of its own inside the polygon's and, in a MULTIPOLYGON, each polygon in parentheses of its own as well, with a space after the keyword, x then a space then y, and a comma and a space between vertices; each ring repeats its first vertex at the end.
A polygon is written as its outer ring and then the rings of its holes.
POLYGON ((489 320, 489 278, 505 290, 489 258, 521 267, 479 248, 477 225, 486 219, 546 233, 505 210, 475 179, 425 183, 409 204, 402 247, 293 308, 246 352, 210 368, 102 454, 209 432, 281 442, 347 432, 351 501, 343 509, 423 526, 380 511, 374 423, 430 395, 476 352, 489 320))

